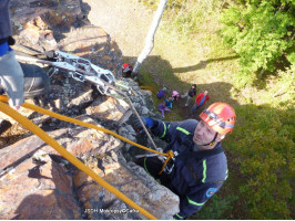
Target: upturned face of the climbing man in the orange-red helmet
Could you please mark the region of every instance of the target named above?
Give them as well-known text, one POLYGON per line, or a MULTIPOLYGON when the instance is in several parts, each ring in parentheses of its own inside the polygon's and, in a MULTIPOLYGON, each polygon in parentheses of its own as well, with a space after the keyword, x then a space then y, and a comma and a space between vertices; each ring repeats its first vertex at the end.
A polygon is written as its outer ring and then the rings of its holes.
POLYGON ((213 140, 216 131, 201 119, 195 127, 193 141, 197 146, 206 145, 213 140))

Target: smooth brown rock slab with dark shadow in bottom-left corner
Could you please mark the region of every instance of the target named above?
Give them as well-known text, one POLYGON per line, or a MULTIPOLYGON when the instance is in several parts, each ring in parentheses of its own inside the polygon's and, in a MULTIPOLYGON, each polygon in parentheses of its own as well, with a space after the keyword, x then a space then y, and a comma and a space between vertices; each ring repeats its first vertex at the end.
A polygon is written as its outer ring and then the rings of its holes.
POLYGON ((0 219, 81 219, 71 176, 40 145, 30 137, 1 149, 0 219))

